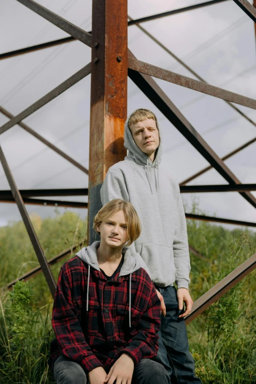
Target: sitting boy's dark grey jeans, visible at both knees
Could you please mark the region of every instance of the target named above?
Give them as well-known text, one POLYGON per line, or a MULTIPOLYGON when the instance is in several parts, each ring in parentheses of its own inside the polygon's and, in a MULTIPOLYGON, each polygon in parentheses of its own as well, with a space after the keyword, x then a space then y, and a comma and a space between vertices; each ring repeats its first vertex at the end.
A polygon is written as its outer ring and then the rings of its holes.
MULTIPOLYGON (((75 361, 61 355, 54 363, 56 384, 86 384, 88 380, 82 367, 75 361)), ((163 365, 143 358, 134 368, 132 384, 170 384, 170 378, 163 365)))

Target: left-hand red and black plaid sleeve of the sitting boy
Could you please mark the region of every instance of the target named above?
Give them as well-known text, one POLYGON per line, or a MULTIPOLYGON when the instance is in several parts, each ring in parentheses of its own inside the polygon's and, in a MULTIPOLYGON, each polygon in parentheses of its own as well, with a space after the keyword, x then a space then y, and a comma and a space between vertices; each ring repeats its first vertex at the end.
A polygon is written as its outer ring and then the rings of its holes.
POLYGON ((63 356, 81 365, 86 374, 94 368, 103 367, 85 341, 74 312, 71 289, 62 269, 55 292, 51 323, 59 352, 63 356))

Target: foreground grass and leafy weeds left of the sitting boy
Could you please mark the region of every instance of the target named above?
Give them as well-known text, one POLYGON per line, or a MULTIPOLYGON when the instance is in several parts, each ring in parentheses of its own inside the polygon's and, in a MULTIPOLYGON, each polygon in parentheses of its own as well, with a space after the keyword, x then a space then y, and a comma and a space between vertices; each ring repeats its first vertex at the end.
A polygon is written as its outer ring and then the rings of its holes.
POLYGON ((33 310, 33 289, 17 282, 0 301, 0 383, 51 384, 47 359, 51 330, 50 306, 33 310))

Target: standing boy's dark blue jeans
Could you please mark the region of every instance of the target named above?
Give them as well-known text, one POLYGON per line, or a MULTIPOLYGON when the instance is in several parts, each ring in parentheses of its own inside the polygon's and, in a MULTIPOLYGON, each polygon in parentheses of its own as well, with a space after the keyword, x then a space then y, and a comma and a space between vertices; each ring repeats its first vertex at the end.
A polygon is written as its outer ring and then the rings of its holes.
POLYGON ((188 349, 188 339, 183 318, 178 318, 177 290, 173 286, 156 289, 161 293, 166 306, 166 316, 161 316, 159 350, 155 361, 160 362, 170 375, 172 384, 200 384, 195 376, 194 359, 188 349))

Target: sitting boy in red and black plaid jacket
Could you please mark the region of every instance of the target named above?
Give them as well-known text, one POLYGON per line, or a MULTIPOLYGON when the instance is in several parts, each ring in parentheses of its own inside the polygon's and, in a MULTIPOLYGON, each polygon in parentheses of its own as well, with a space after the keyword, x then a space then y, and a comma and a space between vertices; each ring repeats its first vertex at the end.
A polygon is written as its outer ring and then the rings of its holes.
POLYGON ((57 384, 170 384, 157 354, 160 301, 141 256, 134 207, 121 199, 94 218, 101 241, 60 270, 52 312, 50 368, 57 384))

